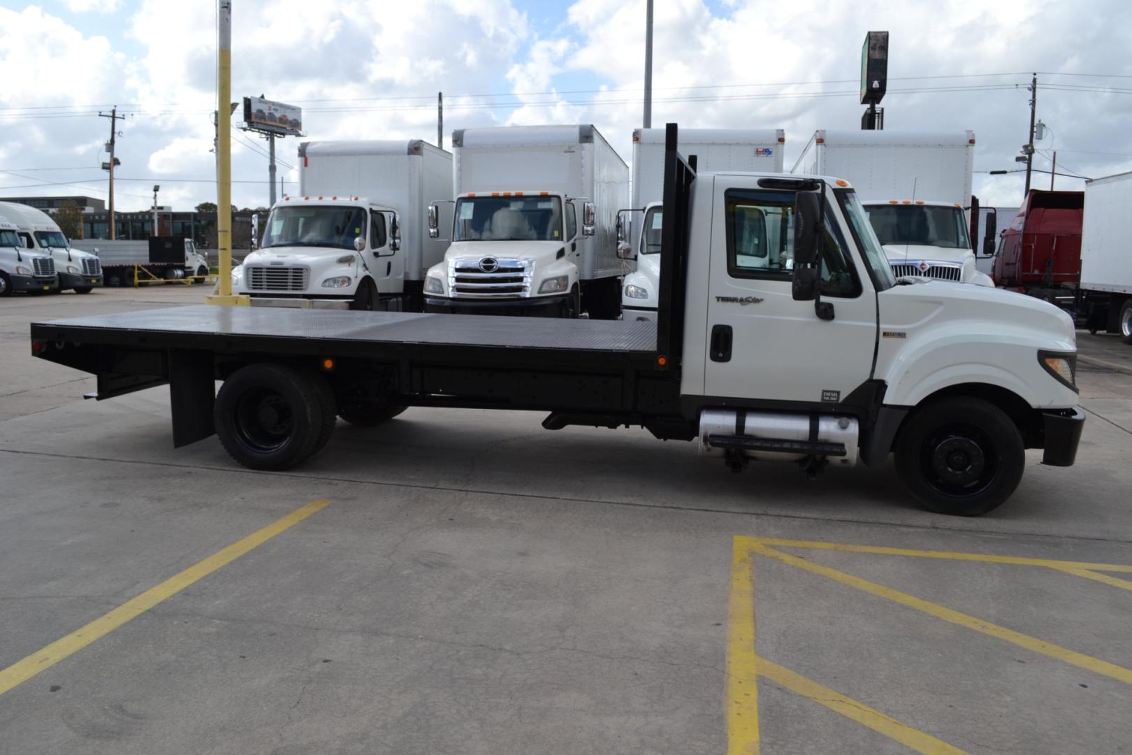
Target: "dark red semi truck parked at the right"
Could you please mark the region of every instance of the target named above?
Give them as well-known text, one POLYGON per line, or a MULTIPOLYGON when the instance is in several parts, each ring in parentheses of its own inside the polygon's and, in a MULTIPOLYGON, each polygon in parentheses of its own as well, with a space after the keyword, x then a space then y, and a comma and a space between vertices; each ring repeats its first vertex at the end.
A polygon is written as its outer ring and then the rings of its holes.
POLYGON ((1083 212, 1083 191, 1030 189, 998 240, 995 285, 1071 309, 1081 281, 1083 212))

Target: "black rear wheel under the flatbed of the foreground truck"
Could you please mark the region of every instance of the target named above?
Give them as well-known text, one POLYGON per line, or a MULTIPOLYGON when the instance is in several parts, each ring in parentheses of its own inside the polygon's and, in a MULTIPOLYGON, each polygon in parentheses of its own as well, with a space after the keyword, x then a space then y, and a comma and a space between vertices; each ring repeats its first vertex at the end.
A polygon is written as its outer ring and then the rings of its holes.
POLYGON ((334 420, 326 417, 318 379, 269 362, 233 372, 213 410, 224 451, 243 466, 265 471, 290 469, 315 453, 334 420))

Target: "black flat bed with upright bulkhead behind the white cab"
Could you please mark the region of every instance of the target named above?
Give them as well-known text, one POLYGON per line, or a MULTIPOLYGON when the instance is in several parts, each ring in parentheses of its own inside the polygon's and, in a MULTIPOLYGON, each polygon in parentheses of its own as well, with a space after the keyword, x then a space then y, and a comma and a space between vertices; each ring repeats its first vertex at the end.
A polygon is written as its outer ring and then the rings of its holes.
POLYGON ((537 410, 551 429, 642 424, 691 439, 679 354, 694 178, 670 125, 657 325, 203 304, 34 323, 33 354, 95 375, 98 400, 168 384, 175 446, 214 432, 215 380, 265 361, 321 370, 352 400, 537 410))

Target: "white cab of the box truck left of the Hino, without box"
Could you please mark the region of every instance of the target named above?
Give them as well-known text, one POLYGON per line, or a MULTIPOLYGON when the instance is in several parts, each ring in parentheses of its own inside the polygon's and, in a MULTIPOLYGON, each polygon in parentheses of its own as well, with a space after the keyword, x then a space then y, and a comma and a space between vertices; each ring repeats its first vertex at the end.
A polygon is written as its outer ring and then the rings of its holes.
POLYGON ((404 260, 397 212, 365 197, 284 197, 263 243, 232 271, 254 306, 389 309, 404 260))

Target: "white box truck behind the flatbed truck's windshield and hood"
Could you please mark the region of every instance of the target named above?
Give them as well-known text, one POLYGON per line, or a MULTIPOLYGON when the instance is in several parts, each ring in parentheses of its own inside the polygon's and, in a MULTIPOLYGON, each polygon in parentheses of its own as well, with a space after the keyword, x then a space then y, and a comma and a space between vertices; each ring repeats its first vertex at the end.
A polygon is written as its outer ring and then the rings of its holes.
POLYGON ((994 285, 976 269, 964 213, 974 166, 974 131, 820 129, 791 172, 852 183, 897 277, 994 285))

